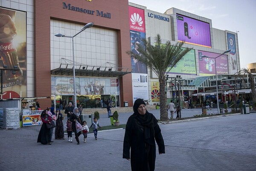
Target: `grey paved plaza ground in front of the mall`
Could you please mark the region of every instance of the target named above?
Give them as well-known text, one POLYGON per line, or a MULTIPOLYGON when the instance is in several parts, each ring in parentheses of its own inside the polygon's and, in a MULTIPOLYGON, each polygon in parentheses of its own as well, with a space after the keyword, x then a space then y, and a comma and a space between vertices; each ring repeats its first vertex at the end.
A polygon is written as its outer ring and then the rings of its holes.
MULTIPOLYGON (((182 110, 183 117, 200 111, 182 110)), ((160 110, 150 112, 159 118, 160 110)), ((121 124, 131 114, 119 113, 121 124)), ((255 113, 186 121, 160 124, 166 154, 157 154, 155 171, 256 171, 255 113)), ((110 125, 107 114, 99 124, 110 125)), ((42 145, 37 143, 39 130, 0 130, 0 171, 131 170, 130 161, 122 159, 124 129, 99 131, 98 140, 90 133, 86 143, 81 135, 80 145, 67 139, 42 145)))

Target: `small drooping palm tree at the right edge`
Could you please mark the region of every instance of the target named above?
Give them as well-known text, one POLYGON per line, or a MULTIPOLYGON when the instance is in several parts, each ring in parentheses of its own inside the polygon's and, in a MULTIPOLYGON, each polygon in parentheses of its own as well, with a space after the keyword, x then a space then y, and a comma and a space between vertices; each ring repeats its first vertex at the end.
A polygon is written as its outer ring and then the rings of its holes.
POLYGON ((255 90, 255 82, 254 82, 254 75, 250 72, 249 69, 247 68, 242 68, 239 72, 236 72, 235 75, 239 75, 239 77, 245 78, 248 75, 249 78, 249 82, 250 82, 250 89, 252 92, 252 96, 253 96, 253 104, 256 104, 256 90, 255 90))

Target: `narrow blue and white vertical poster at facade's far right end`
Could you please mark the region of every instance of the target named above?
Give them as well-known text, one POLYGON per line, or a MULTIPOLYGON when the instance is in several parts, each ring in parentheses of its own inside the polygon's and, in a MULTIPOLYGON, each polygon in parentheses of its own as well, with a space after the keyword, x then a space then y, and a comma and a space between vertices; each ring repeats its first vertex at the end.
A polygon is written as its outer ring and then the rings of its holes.
POLYGON ((227 46, 230 51, 230 67, 231 74, 237 72, 237 59, 236 59, 236 38, 234 34, 227 33, 227 46))

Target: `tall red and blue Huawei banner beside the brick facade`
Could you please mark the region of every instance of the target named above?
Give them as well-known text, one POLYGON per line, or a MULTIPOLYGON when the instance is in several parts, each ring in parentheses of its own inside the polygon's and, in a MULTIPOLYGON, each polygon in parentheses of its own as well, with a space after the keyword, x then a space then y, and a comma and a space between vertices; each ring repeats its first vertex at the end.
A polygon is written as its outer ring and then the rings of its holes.
MULTIPOLYGON (((129 20, 131 52, 133 52, 134 54, 139 54, 139 52, 137 51, 137 45, 142 43, 142 38, 145 38, 144 10, 129 6, 129 20)), ((132 56, 131 67, 133 68, 133 73, 147 73, 147 67, 133 59, 132 56)))

